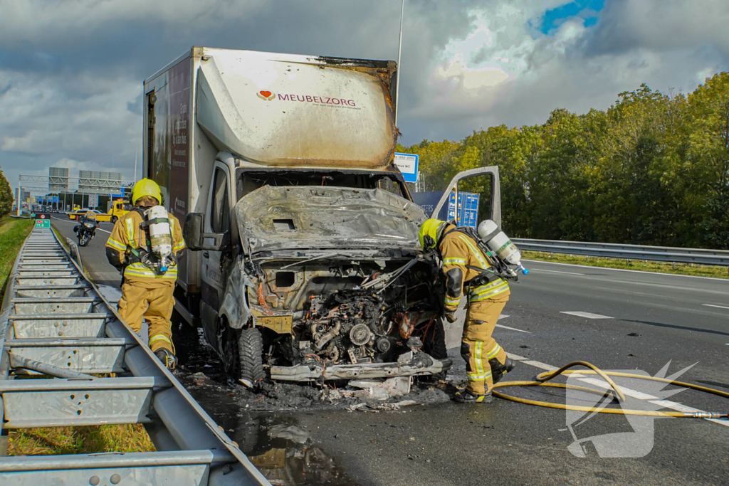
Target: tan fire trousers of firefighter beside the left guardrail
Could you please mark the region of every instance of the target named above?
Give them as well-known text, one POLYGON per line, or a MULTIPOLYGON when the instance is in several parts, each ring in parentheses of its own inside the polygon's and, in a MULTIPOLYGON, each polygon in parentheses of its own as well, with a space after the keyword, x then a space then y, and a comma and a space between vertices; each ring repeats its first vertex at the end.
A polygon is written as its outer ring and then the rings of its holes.
POLYGON ((150 287, 139 281, 122 283, 122 298, 117 305, 119 314, 137 333, 141 331, 142 319, 147 321, 149 348, 152 348, 152 352, 165 348, 174 353, 170 321, 174 288, 174 281, 164 286, 155 281, 155 286, 150 287))

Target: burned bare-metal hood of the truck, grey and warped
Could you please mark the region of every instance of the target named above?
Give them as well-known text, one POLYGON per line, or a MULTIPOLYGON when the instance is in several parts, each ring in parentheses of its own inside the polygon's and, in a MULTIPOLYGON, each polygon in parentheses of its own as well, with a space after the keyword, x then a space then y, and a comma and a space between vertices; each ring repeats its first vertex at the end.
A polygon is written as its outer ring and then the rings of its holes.
POLYGON ((383 189, 264 186, 235 205, 243 246, 420 250, 423 209, 383 189))

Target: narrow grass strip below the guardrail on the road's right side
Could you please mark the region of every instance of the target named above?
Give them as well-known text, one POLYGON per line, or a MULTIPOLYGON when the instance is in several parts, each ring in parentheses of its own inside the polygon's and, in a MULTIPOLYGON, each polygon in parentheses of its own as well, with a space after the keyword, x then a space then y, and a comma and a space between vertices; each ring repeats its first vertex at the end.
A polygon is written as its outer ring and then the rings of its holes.
POLYGON ((523 258, 542 262, 570 263, 587 267, 622 268, 625 270, 642 270, 644 272, 673 273, 675 275, 694 275, 698 277, 729 278, 727 267, 699 265, 690 263, 650 262, 645 260, 625 260, 617 258, 601 258, 599 256, 550 254, 543 251, 523 251, 523 258))

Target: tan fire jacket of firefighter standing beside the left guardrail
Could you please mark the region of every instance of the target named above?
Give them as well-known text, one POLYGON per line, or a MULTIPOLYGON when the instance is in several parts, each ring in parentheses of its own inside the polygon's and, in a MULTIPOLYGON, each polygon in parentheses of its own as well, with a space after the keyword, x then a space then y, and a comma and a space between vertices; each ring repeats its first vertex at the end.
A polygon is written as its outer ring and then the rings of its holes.
MULTIPOLYGON (((167 213, 172 230, 172 252, 176 255, 184 248, 184 240, 182 239, 182 228, 175 216, 167 213)), ((168 267, 168 270, 160 275, 154 270, 144 266, 141 262, 132 262, 125 264, 125 256, 131 256, 132 248, 144 248, 149 251, 149 242, 147 242, 147 233, 142 229, 141 224, 144 218, 138 211, 129 211, 114 224, 112 235, 106 240, 106 258, 109 263, 122 270, 124 280, 129 282, 140 282, 145 285, 157 282, 160 285, 169 285, 177 280, 176 265, 168 267)))

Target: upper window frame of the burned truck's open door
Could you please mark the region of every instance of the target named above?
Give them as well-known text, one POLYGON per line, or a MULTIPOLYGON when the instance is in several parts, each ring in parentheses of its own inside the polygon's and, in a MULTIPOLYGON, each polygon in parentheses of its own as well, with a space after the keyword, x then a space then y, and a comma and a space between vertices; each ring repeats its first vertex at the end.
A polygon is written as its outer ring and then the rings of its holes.
POLYGON ((477 227, 478 223, 491 219, 501 226, 501 190, 499 189, 499 168, 496 165, 479 167, 459 172, 451 179, 443 196, 435 205, 430 217, 433 219, 455 219, 458 226, 477 227), (466 211, 464 194, 477 195, 477 213, 466 211), (448 211, 443 216, 444 206, 448 211), (464 221, 467 219, 467 221, 464 221), (472 222, 472 224, 471 224, 472 222), (468 223, 468 224, 467 224, 468 223))

